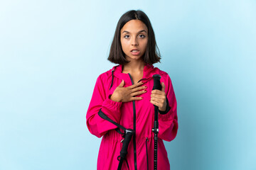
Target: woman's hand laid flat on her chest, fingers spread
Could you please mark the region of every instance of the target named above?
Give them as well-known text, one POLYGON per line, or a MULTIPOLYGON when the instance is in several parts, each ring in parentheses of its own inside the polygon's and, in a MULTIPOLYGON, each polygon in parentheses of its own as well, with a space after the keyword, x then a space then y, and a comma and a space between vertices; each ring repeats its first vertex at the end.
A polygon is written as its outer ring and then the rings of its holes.
POLYGON ((142 97, 134 97, 134 96, 146 93, 146 90, 140 91, 142 89, 146 89, 146 86, 141 86, 142 84, 143 82, 140 81, 139 83, 133 84, 132 86, 123 87, 124 80, 122 80, 119 86, 117 86, 117 89, 114 90, 110 99, 112 101, 117 101, 117 102, 142 100, 142 97))

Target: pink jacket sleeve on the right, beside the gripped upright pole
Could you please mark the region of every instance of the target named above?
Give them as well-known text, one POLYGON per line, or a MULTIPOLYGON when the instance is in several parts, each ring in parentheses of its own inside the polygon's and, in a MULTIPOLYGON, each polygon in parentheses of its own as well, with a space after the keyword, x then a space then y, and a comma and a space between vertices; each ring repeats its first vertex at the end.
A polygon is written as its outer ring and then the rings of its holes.
POLYGON ((174 87, 171 84, 171 78, 167 74, 164 82, 166 97, 170 106, 166 114, 159 114, 159 138, 166 141, 174 140, 178 131, 177 102, 174 94, 174 87))

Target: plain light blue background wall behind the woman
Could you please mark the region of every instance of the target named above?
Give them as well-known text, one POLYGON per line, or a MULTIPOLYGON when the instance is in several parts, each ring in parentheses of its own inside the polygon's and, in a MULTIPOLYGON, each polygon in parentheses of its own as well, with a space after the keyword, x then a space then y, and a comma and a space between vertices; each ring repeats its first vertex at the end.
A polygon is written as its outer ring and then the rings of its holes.
POLYGON ((85 115, 119 17, 151 21, 178 103, 171 169, 256 169, 256 2, 0 1, 0 169, 96 169, 85 115))

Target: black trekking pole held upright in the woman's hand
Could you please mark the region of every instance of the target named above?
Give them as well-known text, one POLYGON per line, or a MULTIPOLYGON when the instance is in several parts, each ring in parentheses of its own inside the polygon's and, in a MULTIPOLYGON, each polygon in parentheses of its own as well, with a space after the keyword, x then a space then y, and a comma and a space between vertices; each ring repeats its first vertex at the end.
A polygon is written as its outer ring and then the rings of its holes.
MULTIPOLYGON (((159 74, 153 75, 154 86, 152 90, 161 90, 160 79, 161 76, 159 74)), ((159 121, 158 121, 159 107, 154 105, 154 128, 152 131, 154 132, 154 170, 157 170, 157 134, 159 132, 159 121)))

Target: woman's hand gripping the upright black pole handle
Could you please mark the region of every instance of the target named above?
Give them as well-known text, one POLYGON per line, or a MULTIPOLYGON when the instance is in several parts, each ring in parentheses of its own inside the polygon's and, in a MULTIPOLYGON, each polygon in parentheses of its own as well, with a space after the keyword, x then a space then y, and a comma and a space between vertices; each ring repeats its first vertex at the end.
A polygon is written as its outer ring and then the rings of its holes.
POLYGON ((159 90, 153 90, 151 92, 151 100, 150 103, 154 104, 155 106, 159 107, 159 111, 165 111, 166 110, 166 94, 164 92, 165 85, 164 82, 161 83, 162 89, 159 90))

